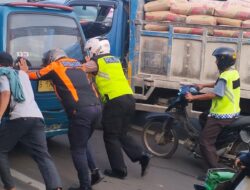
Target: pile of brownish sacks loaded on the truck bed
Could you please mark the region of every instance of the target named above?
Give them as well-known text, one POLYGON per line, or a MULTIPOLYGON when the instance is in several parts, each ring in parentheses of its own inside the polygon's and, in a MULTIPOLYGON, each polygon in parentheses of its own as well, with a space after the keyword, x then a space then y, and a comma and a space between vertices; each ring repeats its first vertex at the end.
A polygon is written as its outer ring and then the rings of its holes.
MULTIPOLYGON (((146 21, 183 22, 250 28, 250 0, 155 0, 144 5, 146 21)), ((167 26, 146 24, 146 30, 167 31, 167 26)), ((176 33, 202 34, 202 28, 174 27, 176 33)), ((239 31, 214 30, 210 35, 238 37, 239 31)), ((244 32, 249 37, 250 32, 244 32)))

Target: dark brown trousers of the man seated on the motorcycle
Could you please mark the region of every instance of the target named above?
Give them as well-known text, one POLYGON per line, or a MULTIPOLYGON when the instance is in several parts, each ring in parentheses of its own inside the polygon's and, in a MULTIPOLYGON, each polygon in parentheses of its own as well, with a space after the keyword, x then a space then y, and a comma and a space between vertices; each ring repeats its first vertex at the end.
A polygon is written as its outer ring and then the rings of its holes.
POLYGON ((222 128, 235 119, 215 119, 208 117, 205 127, 200 135, 201 154, 208 163, 209 168, 219 168, 215 142, 222 128))

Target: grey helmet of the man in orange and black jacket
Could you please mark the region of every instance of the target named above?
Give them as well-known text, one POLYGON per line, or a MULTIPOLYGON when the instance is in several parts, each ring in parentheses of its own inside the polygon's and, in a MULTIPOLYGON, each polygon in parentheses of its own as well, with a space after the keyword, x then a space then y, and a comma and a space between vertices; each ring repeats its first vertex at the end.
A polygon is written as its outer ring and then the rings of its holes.
POLYGON ((43 66, 47 66, 53 61, 56 61, 62 57, 67 57, 65 51, 62 49, 52 49, 43 54, 43 66))

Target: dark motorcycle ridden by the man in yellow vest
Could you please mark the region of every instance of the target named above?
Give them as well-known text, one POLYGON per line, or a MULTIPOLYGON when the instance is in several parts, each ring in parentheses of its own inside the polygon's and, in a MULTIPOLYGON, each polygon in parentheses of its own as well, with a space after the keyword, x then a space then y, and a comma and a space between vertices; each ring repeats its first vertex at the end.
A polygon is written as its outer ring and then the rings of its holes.
MULTIPOLYGON (((146 117, 142 140, 151 154, 171 158, 180 142, 176 131, 180 126, 186 132, 182 144, 195 157, 201 158, 198 148, 201 127, 195 126, 188 116, 188 101, 185 98, 188 92, 193 95, 200 93, 196 86, 183 85, 177 96, 169 100, 165 113, 152 113, 146 117)), ((249 150, 249 146, 250 116, 240 116, 230 126, 225 127, 217 138, 219 162, 232 165, 236 155, 242 150, 249 150)))

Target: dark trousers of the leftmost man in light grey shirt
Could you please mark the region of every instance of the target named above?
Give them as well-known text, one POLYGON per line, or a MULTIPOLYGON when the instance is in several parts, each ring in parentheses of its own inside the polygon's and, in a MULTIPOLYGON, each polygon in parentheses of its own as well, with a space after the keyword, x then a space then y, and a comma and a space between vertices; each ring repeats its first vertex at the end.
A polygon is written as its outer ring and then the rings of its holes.
POLYGON ((8 153, 20 142, 38 164, 47 190, 62 187, 57 169, 47 149, 41 118, 18 118, 6 121, 0 128, 0 175, 4 188, 15 186, 10 174, 8 153))

